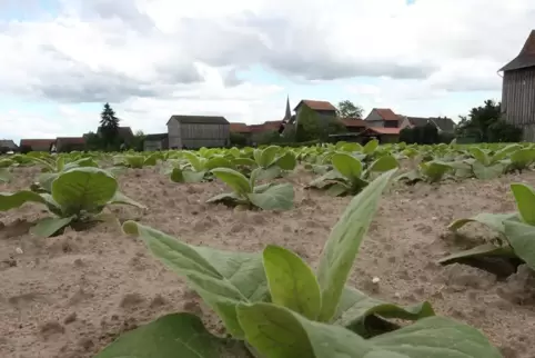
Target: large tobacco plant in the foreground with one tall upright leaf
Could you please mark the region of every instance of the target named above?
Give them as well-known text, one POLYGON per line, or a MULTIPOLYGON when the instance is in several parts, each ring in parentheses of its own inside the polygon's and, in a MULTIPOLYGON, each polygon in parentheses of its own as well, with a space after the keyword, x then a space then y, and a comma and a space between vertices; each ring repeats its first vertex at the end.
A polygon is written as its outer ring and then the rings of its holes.
POLYGON ((224 251, 125 222, 123 230, 183 276, 231 338, 212 336, 191 314, 172 314, 121 336, 97 358, 246 357, 246 350, 259 358, 501 357, 478 330, 434 316, 427 302, 400 307, 346 286, 392 176, 382 175, 351 201, 315 272, 282 247, 269 245, 262 253, 224 251), (390 318, 415 322, 400 327, 390 318))

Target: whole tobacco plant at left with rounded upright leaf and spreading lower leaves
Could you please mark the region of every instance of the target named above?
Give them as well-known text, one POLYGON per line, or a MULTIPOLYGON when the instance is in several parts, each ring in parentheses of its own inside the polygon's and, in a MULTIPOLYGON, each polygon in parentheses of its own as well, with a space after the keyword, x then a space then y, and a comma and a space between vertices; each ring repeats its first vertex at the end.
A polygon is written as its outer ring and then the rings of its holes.
POLYGON ((115 178, 99 168, 73 168, 58 175, 50 185, 50 193, 21 190, 0 192, 0 211, 21 207, 26 202, 44 205, 53 217, 38 221, 30 232, 50 237, 68 226, 74 228, 99 220, 108 205, 124 203, 143 208, 118 191, 115 178))

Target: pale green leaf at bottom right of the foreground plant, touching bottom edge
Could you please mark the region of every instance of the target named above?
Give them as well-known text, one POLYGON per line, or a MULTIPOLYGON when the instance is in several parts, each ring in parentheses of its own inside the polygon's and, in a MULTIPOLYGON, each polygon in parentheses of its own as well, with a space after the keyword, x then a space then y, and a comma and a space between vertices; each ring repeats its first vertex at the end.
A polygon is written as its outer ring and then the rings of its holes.
POLYGON ((502 358, 480 330, 443 317, 424 318, 369 341, 407 358, 502 358))

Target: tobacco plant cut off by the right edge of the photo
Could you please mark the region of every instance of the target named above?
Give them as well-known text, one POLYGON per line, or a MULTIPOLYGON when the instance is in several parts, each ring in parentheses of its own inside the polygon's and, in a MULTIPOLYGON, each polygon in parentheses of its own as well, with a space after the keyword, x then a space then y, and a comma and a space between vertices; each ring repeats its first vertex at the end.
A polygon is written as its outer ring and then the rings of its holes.
POLYGON ((480 222, 496 231, 499 235, 497 240, 450 255, 441 259, 440 263, 477 265, 481 259, 503 258, 517 259, 535 270, 535 191, 524 183, 512 183, 511 190, 517 212, 478 213, 472 218, 455 220, 448 227, 450 230, 457 231, 470 222, 480 222))

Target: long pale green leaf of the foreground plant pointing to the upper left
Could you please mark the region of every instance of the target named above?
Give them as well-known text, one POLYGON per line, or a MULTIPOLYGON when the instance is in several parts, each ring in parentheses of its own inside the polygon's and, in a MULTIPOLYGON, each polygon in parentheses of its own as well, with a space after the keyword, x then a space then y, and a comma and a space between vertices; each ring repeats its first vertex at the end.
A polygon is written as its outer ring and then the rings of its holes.
POLYGON ((236 305, 265 300, 269 295, 259 253, 188 245, 134 221, 124 222, 123 230, 139 236, 155 257, 185 276, 193 289, 220 316, 229 332, 243 337, 236 318, 236 305))

